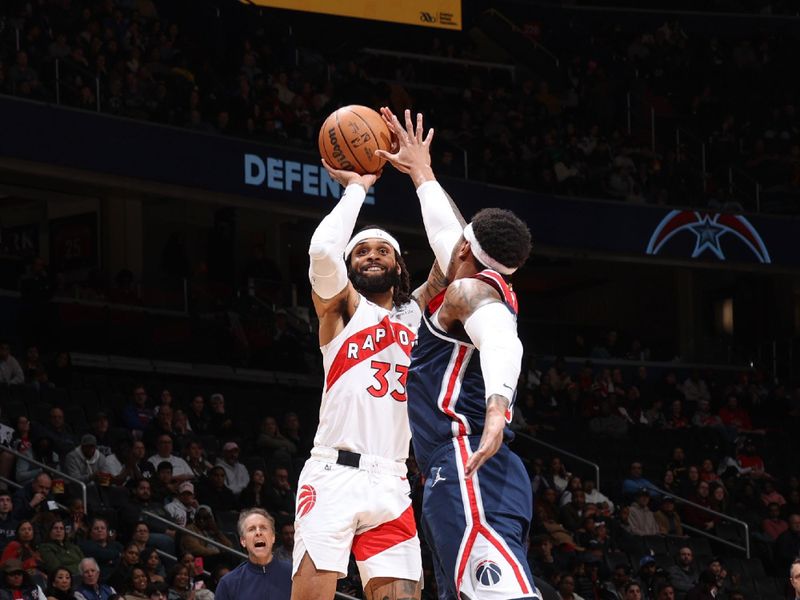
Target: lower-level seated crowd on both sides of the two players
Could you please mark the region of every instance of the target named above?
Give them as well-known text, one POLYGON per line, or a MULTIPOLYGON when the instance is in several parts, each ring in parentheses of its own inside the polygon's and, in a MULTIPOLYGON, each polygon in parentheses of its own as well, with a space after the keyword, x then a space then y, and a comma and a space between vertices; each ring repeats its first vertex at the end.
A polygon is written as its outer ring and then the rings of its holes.
MULTIPOLYGON (((600 346, 606 352, 595 354, 617 354, 608 340, 600 346)), ((2 385, 11 384, 4 397, 39 391, 30 377, 40 359, 17 360, 7 344, 0 350, 2 385)), ((595 457, 604 473, 598 489, 570 457, 515 445, 534 490, 534 574, 565 599, 636 597, 626 596, 634 586, 643 598, 695 598, 703 586, 731 599, 777 597, 800 552, 800 478, 779 422, 800 414, 798 390, 754 373, 731 380, 723 371, 654 377, 644 367, 578 367, 531 359, 523 369, 515 444, 551 439, 595 457), (737 520, 750 527, 752 560, 701 534, 741 545, 737 520)), ((61 401, 27 411, 3 403, 2 443, 22 454, 0 453, 0 475, 21 485, 0 494, 3 565, 21 561, 26 581, 43 590, 61 577, 74 578, 67 587, 96 583, 130 594, 165 582, 184 599, 202 581, 210 594, 238 562, 220 547, 233 547, 237 511, 249 506, 274 515, 276 555, 291 556, 296 478, 311 447, 296 403, 292 412, 273 403, 274 415, 264 416, 259 407, 242 412, 236 399, 232 409, 219 392, 136 385, 124 404, 101 402, 82 426, 75 415, 83 408, 76 412, 70 399, 86 380, 73 373, 63 381, 67 392, 52 396, 61 401), (87 486, 87 505, 75 481, 87 486), (156 550, 175 556, 175 565, 156 550)), ((413 459, 409 482, 419 510, 424 474, 413 459)), ((425 556, 424 594, 435 598, 425 556)), ((356 573, 341 590, 360 594, 356 573)))

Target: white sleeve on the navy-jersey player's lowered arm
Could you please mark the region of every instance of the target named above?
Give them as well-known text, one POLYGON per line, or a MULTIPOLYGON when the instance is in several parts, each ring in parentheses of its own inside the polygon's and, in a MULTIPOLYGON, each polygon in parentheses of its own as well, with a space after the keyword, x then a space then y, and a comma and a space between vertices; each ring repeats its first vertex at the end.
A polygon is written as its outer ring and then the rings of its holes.
POLYGON ((522 342, 514 315, 501 302, 490 302, 464 321, 464 329, 481 353, 486 398, 497 394, 511 403, 522 365, 522 342))

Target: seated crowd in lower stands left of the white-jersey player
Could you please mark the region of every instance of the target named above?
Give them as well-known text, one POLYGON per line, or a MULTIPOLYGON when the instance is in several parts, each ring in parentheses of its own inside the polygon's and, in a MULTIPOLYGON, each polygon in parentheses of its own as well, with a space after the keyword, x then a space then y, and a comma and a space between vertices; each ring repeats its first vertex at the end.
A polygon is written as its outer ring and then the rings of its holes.
MULTIPOLYGON (((27 377, 31 356, 21 365, 7 344, 0 349, 0 443, 18 453, 0 452, 0 476, 16 484, 0 484, 5 573, 23 573, 48 597, 147 598, 149 586, 210 600, 239 562, 224 551, 236 546, 239 509, 253 506, 274 515, 276 552, 291 556, 294 482, 310 450, 296 413, 282 409, 280 429, 267 416, 253 432, 222 393, 180 402, 168 389, 151 398, 137 385, 124 406, 81 424, 75 415, 83 409, 66 394, 31 405, 30 391, 39 389, 27 377), (18 394, 28 401, 15 403, 18 394)), ((11 589, 7 583, 0 589, 11 589)))

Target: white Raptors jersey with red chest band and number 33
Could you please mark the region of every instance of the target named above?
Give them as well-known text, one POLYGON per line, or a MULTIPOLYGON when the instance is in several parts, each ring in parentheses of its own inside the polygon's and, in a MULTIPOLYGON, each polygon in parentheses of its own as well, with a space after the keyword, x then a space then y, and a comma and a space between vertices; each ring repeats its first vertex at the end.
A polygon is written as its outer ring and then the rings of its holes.
POLYGON ((413 301, 389 311, 360 297, 345 328, 320 348, 325 387, 315 446, 408 457, 406 377, 420 317, 413 301))

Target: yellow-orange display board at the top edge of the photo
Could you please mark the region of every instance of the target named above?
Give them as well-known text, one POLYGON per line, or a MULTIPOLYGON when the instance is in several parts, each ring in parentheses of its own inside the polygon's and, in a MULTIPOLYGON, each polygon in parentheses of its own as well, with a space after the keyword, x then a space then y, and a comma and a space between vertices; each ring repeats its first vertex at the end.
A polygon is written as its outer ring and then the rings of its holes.
POLYGON ((245 0, 248 4, 305 12, 461 29, 461 0, 245 0))

